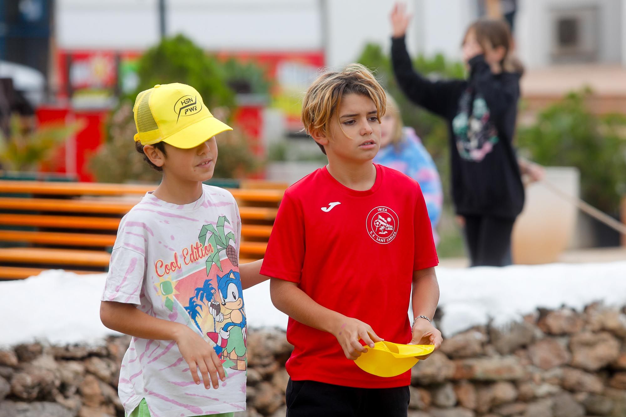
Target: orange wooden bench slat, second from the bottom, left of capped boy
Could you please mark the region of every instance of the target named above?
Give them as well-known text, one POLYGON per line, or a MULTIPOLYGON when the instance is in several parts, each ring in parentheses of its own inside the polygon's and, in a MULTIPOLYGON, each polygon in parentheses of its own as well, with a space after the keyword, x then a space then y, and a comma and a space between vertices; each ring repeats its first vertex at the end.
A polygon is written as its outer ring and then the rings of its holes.
POLYGON ((49 264, 107 267, 105 250, 49 249, 33 247, 0 248, 0 261, 13 264, 49 264))

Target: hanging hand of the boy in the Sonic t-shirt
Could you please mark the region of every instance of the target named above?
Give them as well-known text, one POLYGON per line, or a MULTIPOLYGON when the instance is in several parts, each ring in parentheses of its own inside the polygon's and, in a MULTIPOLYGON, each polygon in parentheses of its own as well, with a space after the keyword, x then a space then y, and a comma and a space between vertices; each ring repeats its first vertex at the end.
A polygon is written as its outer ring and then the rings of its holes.
POLYGON ((175 336, 175 341, 178 344, 180 354, 189 365, 193 382, 200 384, 198 377, 198 368, 200 368, 205 388, 210 388, 211 383, 213 383, 213 388, 217 389, 219 386, 217 375, 219 374, 222 381, 226 379, 222 361, 217 357, 212 346, 200 335, 187 326, 181 326, 175 336))

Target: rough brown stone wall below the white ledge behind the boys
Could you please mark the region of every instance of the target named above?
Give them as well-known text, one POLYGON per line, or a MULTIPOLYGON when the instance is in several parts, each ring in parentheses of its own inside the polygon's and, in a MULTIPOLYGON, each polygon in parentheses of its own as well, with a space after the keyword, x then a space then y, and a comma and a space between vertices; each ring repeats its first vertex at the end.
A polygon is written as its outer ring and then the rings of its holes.
MULTIPOLYGON (((413 369, 411 417, 626 417, 626 309, 538 311, 506 329, 447 338, 413 369)), ((116 396, 127 337, 106 344, 23 344, 0 351, 0 416, 123 416, 116 396)), ((248 407, 284 416, 291 346, 284 332, 248 337, 248 407)))

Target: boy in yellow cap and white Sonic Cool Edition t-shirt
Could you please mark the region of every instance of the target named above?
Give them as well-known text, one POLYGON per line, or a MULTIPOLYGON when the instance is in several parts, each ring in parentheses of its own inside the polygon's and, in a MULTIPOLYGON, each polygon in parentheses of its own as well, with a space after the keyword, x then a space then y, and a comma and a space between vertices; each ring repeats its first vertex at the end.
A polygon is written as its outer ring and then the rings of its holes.
POLYGON ((232 129, 179 83, 142 91, 133 113, 136 149, 163 180, 121 220, 101 298, 103 324, 133 336, 121 403, 131 417, 230 416, 245 409, 242 291, 264 280, 261 261, 239 265, 235 199, 203 184, 215 135, 232 129))

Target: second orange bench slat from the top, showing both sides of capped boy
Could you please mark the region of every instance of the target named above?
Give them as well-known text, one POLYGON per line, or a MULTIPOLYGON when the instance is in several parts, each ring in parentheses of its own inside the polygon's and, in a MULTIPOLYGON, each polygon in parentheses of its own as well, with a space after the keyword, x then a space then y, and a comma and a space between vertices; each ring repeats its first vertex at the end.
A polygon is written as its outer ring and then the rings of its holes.
MULTIPOLYGON (((135 203, 136 202, 113 202, 106 200, 0 197, 0 210, 123 215, 126 214, 135 203)), ((239 215, 242 220, 274 220, 277 212, 278 209, 272 207, 239 207, 239 215)))

